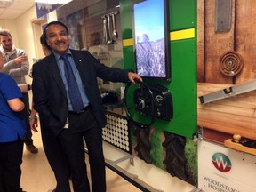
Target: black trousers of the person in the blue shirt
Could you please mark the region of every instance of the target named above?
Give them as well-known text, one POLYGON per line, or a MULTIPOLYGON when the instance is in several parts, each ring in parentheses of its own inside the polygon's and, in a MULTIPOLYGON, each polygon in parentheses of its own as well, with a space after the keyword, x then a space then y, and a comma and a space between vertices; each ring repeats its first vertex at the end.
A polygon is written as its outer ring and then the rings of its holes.
POLYGON ((21 192, 23 140, 0 143, 0 191, 21 192))

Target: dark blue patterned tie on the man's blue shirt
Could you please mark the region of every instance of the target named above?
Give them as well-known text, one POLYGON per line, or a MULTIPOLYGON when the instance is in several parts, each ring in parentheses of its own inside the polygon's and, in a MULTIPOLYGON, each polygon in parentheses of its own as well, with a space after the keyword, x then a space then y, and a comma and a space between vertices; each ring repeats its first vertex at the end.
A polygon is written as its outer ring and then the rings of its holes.
POLYGON ((64 54, 60 57, 64 60, 65 76, 68 83, 68 95, 71 101, 71 105, 74 111, 81 111, 84 108, 83 100, 79 92, 78 84, 76 83, 76 77, 68 61, 68 54, 64 54))

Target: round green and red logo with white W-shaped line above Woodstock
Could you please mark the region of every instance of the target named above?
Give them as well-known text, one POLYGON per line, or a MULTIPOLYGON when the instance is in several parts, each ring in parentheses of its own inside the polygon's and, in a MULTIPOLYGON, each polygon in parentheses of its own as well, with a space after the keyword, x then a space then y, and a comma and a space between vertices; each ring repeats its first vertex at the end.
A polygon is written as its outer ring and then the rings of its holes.
POLYGON ((228 156, 222 153, 215 153, 212 156, 212 164, 220 172, 229 172, 232 167, 231 161, 228 156))

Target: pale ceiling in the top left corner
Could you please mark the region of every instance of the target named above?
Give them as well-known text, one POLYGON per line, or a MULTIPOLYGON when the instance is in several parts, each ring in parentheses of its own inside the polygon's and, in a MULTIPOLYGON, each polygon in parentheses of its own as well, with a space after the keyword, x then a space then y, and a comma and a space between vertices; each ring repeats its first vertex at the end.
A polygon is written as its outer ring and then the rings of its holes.
POLYGON ((0 20, 14 20, 34 5, 35 0, 0 0, 0 20))

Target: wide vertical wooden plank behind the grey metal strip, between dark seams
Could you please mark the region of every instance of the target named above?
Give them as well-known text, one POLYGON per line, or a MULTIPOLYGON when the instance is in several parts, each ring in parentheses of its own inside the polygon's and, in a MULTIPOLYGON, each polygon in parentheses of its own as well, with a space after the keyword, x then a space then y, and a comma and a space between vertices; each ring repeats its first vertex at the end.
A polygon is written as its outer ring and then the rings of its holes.
POLYGON ((234 1, 232 1, 232 21, 228 32, 215 32, 215 1, 205 1, 205 82, 232 84, 232 77, 220 73, 219 60, 223 53, 234 51, 234 1))

